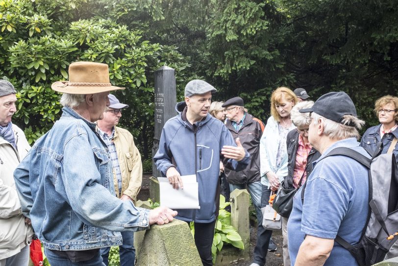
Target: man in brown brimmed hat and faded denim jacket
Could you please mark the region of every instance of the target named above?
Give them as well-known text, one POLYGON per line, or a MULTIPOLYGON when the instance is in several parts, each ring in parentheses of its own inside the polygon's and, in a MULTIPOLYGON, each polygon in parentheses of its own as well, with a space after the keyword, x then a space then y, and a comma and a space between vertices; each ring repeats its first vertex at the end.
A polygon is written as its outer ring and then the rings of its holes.
POLYGON ((100 248, 121 245, 120 231, 149 229, 173 220, 167 208, 145 210, 115 197, 112 164, 96 131, 111 90, 108 66, 75 62, 61 118, 39 138, 14 172, 22 211, 32 222, 51 265, 103 265, 100 248))

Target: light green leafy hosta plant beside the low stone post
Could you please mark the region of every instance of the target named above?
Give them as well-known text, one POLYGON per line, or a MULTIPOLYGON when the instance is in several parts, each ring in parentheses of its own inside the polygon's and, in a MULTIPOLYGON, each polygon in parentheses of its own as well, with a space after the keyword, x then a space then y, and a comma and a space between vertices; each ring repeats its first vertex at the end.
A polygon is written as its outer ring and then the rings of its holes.
MULTIPOLYGON (((225 207, 229 205, 229 202, 225 202, 225 197, 220 195, 220 212, 216 222, 216 230, 214 231, 213 245, 211 246, 213 264, 216 262, 217 253, 221 251, 224 243, 231 244, 240 249, 245 249, 237 229, 231 225, 231 213, 225 211, 225 207)), ((194 235, 195 228, 193 222, 191 222, 190 227, 191 233, 194 235)))

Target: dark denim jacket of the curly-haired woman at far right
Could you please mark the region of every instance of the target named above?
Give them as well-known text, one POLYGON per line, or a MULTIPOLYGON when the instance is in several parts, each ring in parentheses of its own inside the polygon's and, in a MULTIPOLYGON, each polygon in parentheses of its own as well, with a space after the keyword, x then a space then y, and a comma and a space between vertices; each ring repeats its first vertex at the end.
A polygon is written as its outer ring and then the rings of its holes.
MULTIPOLYGON (((377 148, 377 144, 383 142, 383 153, 387 153, 388 149, 390 148, 391 142, 394 139, 394 136, 398 138, 398 128, 391 132, 385 133, 383 138, 380 138, 380 127, 381 124, 378 126, 370 127, 366 130, 361 138, 361 147, 368 149, 370 152, 375 152, 377 148)), ((395 146, 393 153, 395 154, 395 158, 398 162, 398 144, 395 146)))

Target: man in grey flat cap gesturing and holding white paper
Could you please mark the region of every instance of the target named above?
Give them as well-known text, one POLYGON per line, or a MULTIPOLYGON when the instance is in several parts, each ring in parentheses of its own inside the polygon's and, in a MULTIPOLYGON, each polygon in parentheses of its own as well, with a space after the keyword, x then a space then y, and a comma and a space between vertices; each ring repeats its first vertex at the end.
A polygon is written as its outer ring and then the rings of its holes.
POLYGON ((220 159, 229 159, 225 167, 235 171, 245 169, 250 161, 239 138, 235 144, 224 124, 208 113, 216 91, 203 80, 188 82, 185 101, 175 106, 178 114, 164 125, 153 158, 157 169, 176 189, 183 189, 180 176, 196 175, 200 209, 178 210, 176 217, 194 221, 195 243, 204 266, 213 265, 211 245, 219 209, 220 159))

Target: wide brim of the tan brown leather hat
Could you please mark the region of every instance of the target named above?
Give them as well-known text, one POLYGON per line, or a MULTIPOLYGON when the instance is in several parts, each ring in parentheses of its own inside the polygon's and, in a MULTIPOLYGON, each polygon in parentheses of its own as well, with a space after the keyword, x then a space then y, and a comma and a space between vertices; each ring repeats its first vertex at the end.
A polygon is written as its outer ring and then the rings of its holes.
POLYGON ((125 88, 116 86, 69 86, 68 81, 56 81, 52 83, 51 89, 69 94, 94 94, 105 91, 123 90, 125 88))

